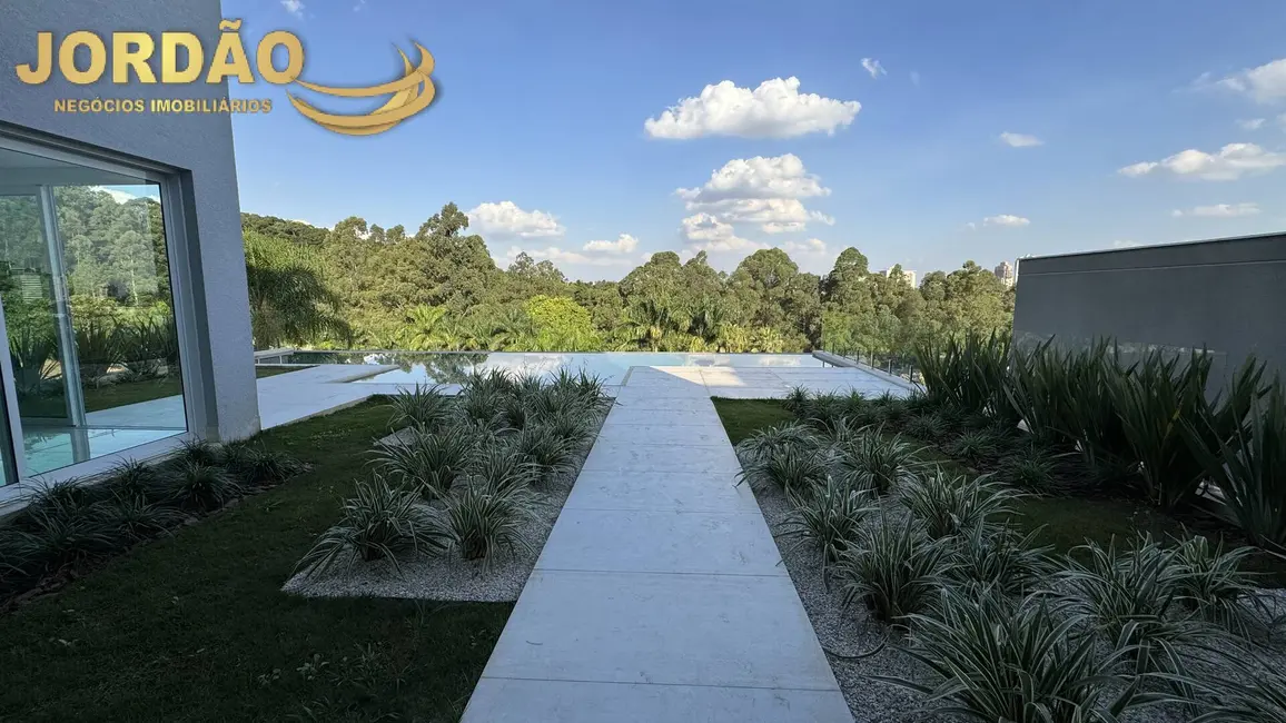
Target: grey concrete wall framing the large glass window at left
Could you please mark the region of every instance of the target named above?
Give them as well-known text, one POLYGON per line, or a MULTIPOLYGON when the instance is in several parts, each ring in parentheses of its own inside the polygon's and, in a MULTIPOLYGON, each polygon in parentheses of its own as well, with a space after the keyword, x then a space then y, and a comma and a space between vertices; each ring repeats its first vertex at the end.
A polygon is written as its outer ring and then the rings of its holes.
MULTIPOLYGON (((211 53, 222 19, 219 0, 0 0, 0 130, 35 130, 165 163, 180 170, 188 197, 186 238, 193 271, 194 306, 189 322, 208 342, 198 359, 185 359, 202 381, 207 436, 237 439, 258 430, 253 343, 246 295, 240 205, 233 129, 228 114, 55 113, 55 99, 228 96, 226 84, 140 85, 111 84, 108 72, 96 84, 72 85, 58 73, 46 84, 22 84, 14 67, 36 59, 36 33, 54 33, 57 44, 77 30, 95 31, 108 40, 112 31, 189 31, 211 53)), ((154 35, 156 36, 156 35, 154 35)), ((253 48, 249 49, 253 57, 253 48)), ((159 49, 158 49, 159 53, 159 49)), ((175 270, 175 275, 180 271, 175 270)))

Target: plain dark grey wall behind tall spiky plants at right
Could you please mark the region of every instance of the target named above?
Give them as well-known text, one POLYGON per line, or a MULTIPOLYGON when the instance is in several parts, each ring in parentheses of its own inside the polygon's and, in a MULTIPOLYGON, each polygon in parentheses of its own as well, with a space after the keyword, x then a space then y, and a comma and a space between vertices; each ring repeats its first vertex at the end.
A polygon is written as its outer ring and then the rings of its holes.
POLYGON ((1019 343, 1208 347, 1211 383, 1254 354, 1286 373, 1286 234, 1022 259, 1019 343))

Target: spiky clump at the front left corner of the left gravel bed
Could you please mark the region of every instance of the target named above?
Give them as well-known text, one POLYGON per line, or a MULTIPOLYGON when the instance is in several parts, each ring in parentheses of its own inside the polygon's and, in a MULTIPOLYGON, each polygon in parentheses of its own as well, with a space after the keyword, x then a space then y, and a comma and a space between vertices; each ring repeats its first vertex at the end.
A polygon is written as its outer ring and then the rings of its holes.
POLYGON ((296 571, 303 570, 311 578, 337 565, 351 569, 359 560, 388 560, 400 574, 399 554, 437 554, 451 539, 441 516, 421 504, 419 495, 373 475, 358 482, 354 497, 341 508, 340 521, 318 538, 296 571))

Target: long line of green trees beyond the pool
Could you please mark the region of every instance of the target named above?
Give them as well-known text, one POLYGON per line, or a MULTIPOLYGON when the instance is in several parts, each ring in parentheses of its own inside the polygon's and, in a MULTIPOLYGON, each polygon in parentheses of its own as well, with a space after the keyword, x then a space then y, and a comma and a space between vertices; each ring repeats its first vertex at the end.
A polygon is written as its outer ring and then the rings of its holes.
POLYGON ((414 233, 243 214, 256 346, 903 354, 1012 324, 1013 291, 974 261, 913 287, 851 247, 823 277, 779 248, 732 273, 662 251, 619 282, 574 282, 526 253, 498 268, 468 225, 454 203, 414 233))

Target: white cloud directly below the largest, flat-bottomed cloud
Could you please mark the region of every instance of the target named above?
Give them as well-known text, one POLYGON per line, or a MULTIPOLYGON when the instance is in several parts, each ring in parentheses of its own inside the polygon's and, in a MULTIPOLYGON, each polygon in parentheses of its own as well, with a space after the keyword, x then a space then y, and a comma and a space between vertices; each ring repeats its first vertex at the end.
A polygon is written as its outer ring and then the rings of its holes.
POLYGON ((765 233, 799 232, 814 221, 833 224, 835 219, 800 201, 829 193, 790 153, 728 161, 710 174, 705 185, 675 190, 688 211, 709 214, 725 224, 754 224, 765 233))

